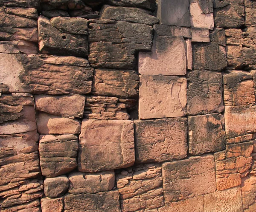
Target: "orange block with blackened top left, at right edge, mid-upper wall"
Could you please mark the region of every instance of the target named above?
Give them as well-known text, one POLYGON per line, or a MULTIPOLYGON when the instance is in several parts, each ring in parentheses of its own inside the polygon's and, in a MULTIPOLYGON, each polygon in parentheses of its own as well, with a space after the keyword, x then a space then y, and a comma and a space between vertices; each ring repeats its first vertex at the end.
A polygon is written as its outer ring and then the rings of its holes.
POLYGON ((246 71, 228 71, 223 75, 226 106, 255 103, 252 75, 246 71))

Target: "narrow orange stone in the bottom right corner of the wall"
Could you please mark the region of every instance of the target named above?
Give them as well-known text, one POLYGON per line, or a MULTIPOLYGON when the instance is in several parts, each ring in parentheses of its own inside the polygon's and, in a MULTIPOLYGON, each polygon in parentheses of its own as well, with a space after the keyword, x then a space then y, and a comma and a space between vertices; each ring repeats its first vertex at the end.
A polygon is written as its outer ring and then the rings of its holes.
POLYGON ((242 178, 241 192, 243 197, 244 212, 256 211, 256 177, 247 176, 242 178))

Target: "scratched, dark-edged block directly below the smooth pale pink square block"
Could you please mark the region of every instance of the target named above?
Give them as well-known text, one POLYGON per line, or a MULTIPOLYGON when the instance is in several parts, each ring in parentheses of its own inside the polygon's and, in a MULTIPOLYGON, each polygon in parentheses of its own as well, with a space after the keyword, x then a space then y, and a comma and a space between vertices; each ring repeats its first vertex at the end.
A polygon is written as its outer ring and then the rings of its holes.
POLYGON ((135 156, 140 163, 180 160, 187 154, 187 119, 136 120, 135 156))

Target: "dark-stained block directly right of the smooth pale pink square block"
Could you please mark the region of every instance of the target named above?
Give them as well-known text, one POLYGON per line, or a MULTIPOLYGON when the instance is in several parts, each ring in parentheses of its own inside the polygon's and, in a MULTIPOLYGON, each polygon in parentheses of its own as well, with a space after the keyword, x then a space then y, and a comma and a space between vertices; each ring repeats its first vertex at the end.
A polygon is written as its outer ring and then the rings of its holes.
POLYGON ((187 113, 189 115, 222 112, 222 74, 215 71, 187 73, 187 113))

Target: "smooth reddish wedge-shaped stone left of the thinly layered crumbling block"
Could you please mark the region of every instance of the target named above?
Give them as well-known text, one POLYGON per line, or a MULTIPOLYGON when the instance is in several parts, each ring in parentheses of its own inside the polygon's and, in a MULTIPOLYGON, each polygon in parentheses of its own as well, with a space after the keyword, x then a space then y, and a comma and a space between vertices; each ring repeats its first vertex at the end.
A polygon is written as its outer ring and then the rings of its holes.
POLYGON ((35 95, 35 109, 56 116, 82 118, 84 105, 85 96, 82 95, 35 95))

